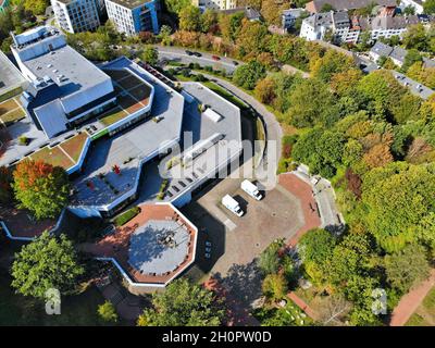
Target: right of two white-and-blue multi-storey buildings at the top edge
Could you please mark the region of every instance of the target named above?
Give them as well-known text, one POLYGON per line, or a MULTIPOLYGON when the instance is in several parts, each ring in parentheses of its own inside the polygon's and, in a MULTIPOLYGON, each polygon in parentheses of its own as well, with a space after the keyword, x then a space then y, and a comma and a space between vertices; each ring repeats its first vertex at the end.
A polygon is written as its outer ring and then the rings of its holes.
POLYGON ((132 36, 139 32, 158 34, 160 30, 158 0, 105 0, 105 9, 120 33, 132 36))

